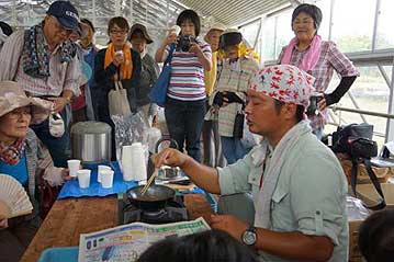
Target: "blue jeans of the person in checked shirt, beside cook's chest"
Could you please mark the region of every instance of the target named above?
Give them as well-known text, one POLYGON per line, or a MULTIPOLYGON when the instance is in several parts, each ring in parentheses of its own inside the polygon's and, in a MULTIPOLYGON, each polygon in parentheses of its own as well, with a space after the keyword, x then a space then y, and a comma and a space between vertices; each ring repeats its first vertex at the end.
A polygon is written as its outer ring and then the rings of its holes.
POLYGON ((228 164, 235 163, 238 159, 244 158, 250 147, 244 145, 240 138, 221 136, 223 155, 228 164))

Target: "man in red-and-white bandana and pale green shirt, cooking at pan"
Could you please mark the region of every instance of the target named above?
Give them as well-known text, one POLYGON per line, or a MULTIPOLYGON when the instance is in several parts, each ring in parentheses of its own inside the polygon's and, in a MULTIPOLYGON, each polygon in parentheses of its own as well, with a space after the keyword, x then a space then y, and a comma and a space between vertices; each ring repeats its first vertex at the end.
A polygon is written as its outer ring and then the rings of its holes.
POLYGON ((175 149, 154 157, 178 166, 214 194, 252 192, 250 225, 230 215, 211 226, 258 250, 262 261, 347 261, 347 182, 335 155, 304 119, 314 90, 311 76, 290 65, 259 70, 247 91, 250 132, 264 137, 244 159, 209 168, 175 149))

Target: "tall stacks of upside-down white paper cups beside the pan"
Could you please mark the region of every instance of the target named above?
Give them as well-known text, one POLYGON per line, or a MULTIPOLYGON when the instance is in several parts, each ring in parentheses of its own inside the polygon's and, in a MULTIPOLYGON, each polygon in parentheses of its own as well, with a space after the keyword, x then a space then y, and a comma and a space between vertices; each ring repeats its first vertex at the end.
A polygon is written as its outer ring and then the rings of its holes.
POLYGON ((122 148, 122 172, 124 181, 146 180, 146 159, 144 147, 140 143, 122 148))

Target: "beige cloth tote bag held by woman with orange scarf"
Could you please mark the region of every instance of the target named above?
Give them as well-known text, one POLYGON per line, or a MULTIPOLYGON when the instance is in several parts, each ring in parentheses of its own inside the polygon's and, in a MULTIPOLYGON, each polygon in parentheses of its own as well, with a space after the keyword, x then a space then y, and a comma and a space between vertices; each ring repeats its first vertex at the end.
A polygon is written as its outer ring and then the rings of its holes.
POLYGON ((115 81, 115 89, 108 94, 108 104, 110 115, 128 116, 132 114, 127 100, 127 91, 123 88, 121 81, 115 81))

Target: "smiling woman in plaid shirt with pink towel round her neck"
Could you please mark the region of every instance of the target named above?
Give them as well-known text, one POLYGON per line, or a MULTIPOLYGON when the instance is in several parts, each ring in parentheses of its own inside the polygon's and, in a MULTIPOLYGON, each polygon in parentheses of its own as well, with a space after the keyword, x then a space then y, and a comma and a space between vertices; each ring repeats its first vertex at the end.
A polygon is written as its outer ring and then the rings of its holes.
POLYGON ((359 76, 356 67, 339 52, 336 44, 331 41, 322 41, 317 34, 322 19, 322 11, 316 5, 300 4, 292 14, 295 37, 283 47, 279 56, 280 64, 296 66, 315 77, 314 87, 319 94, 314 99, 318 101, 318 111, 307 112, 312 129, 319 138, 328 119, 326 107, 338 103, 359 76), (340 76, 340 83, 331 93, 325 93, 334 70, 340 76))

